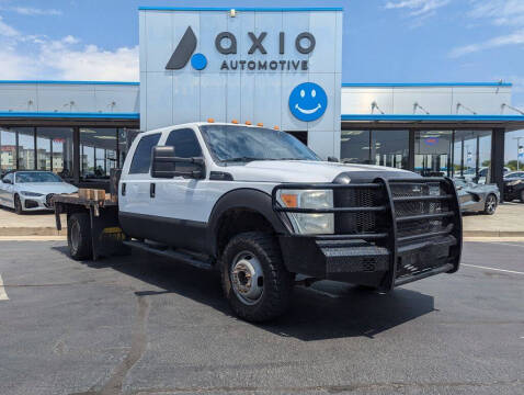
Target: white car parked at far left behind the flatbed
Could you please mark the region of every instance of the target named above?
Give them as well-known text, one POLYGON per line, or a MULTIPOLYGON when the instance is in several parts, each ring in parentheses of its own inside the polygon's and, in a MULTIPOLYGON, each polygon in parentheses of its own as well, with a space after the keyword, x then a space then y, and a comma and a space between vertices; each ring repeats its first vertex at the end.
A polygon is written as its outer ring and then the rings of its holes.
POLYGON ((26 211, 53 210, 50 199, 59 193, 75 193, 78 188, 50 171, 10 171, 0 183, 0 205, 26 211))

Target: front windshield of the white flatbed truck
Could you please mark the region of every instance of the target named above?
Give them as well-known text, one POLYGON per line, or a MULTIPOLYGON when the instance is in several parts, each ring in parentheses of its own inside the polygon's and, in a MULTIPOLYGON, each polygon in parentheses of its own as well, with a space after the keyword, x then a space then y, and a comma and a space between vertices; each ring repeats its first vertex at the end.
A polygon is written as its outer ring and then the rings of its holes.
POLYGON ((285 132, 233 125, 203 125, 201 131, 214 158, 224 162, 320 160, 312 150, 285 132))

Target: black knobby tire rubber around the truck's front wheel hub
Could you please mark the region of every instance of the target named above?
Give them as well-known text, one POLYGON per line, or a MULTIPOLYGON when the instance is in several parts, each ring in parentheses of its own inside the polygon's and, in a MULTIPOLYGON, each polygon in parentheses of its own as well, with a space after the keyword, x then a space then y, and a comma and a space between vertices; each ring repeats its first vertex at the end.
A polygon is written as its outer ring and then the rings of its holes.
POLYGON ((240 318, 253 323, 267 321, 288 309, 295 275, 286 270, 280 246, 272 235, 249 232, 235 236, 224 249, 220 269, 224 293, 231 309, 240 318), (263 272, 263 292, 252 305, 242 302, 231 284, 233 260, 242 251, 255 256, 263 272))

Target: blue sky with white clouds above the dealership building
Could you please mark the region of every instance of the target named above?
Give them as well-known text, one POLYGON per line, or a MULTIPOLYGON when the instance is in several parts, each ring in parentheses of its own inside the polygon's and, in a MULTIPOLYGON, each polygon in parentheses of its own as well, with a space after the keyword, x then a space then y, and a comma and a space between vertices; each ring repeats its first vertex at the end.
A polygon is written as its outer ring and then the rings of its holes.
POLYGON ((0 79, 137 81, 139 5, 342 7, 344 82, 502 80, 524 110, 524 0, 0 0, 0 79))

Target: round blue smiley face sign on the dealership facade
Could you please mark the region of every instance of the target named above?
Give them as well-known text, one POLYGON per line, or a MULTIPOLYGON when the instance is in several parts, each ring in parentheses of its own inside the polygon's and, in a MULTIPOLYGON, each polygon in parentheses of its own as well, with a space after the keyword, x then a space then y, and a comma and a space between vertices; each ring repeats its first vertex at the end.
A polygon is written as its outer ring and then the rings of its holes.
POLYGON ((304 82, 295 87, 289 94, 289 110, 300 121, 311 122, 318 120, 326 112, 328 95, 319 84, 304 82))

